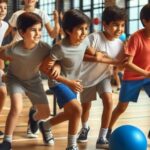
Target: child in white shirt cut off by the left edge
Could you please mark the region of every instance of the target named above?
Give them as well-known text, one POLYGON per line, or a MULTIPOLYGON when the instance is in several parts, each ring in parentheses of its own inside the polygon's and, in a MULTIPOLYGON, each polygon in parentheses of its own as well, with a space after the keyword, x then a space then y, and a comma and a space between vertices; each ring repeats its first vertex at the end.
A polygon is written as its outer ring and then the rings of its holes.
MULTIPOLYGON (((0 0, 0 46, 2 44, 4 34, 8 28, 8 24, 5 21, 3 21, 6 14, 7 14, 7 0, 0 0)), ((6 86, 2 82, 2 75, 4 74, 3 69, 4 69, 4 61, 0 59, 0 113, 2 111, 5 98, 7 95, 6 86)), ((2 138, 3 135, 4 135, 3 132, 0 131, 0 138, 2 138)))

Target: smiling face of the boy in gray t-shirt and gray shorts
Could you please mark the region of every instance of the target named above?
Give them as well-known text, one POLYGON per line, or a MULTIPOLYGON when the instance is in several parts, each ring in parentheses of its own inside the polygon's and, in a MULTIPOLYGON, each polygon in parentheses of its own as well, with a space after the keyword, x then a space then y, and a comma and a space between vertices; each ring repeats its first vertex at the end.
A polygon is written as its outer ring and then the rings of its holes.
POLYGON ((41 39, 42 25, 35 24, 29 27, 25 32, 21 32, 23 40, 29 45, 36 45, 41 39))

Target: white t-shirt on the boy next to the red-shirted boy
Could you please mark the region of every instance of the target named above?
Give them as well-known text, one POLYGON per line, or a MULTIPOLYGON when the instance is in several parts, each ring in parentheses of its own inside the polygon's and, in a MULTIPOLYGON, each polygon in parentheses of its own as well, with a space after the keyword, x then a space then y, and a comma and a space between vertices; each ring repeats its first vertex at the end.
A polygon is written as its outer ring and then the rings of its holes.
MULTIPOLYGON (((102 51, 111 58, 118 58, 122 54, 123 42, 120 39, 108 40, 103 32, 95 32, 89 36, 90 44, 96 51, 102 51)), ((84 87, 98 84, 104 78, 111 76, 110 65, 104 63, 83 62, 80 79, 84 87)))

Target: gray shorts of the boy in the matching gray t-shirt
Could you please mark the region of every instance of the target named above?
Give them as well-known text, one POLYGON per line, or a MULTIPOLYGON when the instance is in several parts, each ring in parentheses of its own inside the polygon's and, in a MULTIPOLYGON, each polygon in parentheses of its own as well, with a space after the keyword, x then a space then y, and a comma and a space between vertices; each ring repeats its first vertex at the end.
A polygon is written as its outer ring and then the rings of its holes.
POLYGON ((40 76, 22 81, 13 75, 7 75, 7 90, 10 95, 15 93, 26 94, 33 105, 48 104, 40 76))

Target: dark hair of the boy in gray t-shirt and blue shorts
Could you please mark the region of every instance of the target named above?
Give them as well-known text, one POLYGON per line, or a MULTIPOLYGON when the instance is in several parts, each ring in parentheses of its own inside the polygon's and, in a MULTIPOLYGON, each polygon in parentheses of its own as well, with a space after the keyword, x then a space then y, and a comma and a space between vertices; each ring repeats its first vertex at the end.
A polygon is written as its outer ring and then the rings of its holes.
POLYGON ((82 24, 90 24, 90 19, 87 15, 85 15, 82 11, 77 9, 70 9, 64 13, 62 20, 62 28, 64 32, 71 32, 75 27, 82 24))

